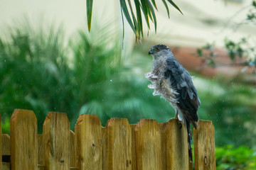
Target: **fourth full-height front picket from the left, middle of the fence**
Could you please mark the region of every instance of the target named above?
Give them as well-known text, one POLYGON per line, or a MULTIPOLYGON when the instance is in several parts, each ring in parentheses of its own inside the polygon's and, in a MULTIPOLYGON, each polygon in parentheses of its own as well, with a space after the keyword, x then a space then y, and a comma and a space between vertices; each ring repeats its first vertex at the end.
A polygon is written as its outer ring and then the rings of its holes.
POLYGON ((132 169, 132 131, 127 119, 111 118, 107 121, 103 157, 105 170, 132 169))

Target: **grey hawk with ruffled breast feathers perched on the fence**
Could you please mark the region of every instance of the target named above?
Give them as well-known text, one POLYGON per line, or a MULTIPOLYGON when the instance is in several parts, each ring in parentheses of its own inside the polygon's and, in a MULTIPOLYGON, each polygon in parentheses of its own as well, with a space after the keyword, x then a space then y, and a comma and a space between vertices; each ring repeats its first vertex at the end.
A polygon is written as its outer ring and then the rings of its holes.
POLYGON ((149 50, 153 56, 152 70, 146 78, 152 84, 154 95, 161 95, 176 111, 175 118, 181 120, 188 132, 188 155, 192 161, 190 123, 198 128, 198 107, 201 104, 190 74, 176 60, 166 45, 154 45, 149 50))

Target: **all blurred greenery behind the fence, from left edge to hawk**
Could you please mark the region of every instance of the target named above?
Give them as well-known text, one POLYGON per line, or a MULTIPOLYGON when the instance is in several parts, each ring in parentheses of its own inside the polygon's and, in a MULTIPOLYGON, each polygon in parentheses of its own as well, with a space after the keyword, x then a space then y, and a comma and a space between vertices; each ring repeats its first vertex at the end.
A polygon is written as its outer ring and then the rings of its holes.
POLYGON ((117 33, 108 26, 99 29, 90 34, 80 30, 68 46, 61 29, 36 30, 28 23, 10 29, 7 40, 0 38, 4 133, 14 108, 33 110, 39 132, 49 111, 68 113, 71 128, 82 113, 99 115, 102 125, 110 117, 129 118, 130 123, 172 117, 171 106, 152 96, 144 74, 134 76, 133 67, 124 65, 117 33))

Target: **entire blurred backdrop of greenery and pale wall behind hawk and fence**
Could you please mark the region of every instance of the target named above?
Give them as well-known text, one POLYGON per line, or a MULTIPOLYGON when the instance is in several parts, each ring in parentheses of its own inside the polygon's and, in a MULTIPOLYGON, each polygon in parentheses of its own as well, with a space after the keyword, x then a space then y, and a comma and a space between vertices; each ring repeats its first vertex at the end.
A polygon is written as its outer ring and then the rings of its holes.
POLYGON ((218 169, 256 169, 256 6, 249 0, 175 1, 164 5, 157 33, 144 27, 135 41, 119 1, 94 1, 87 31, 86 1, 0 0, 0 113, 9 133, 15 108, 36 113, 38 131, 49 111, 65 112, 74 128, 80 114, 159 123, 174 110, 153 96, 144 74, 148 50, 164 43, 193 75, 198 115, 213 121, 218 169), (241 54, 242 52, 242 54, 241 54))

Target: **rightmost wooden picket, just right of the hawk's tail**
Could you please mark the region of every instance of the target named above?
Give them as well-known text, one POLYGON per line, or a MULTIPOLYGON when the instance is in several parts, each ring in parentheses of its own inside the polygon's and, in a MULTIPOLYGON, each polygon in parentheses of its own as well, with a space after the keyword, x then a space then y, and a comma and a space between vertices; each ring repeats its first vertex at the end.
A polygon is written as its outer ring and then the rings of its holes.
POLYGON ((199 120, 194 129, 195 170, 216 169, 214 127, 211 121, 199 120))

